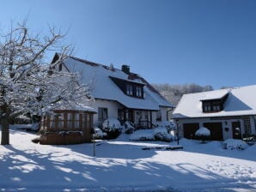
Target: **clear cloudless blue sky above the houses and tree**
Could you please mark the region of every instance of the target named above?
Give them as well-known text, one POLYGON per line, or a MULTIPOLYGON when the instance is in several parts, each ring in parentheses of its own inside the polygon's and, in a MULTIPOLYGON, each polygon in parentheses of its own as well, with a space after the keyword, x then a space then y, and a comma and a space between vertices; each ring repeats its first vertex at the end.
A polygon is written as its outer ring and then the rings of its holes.
POLYGON ((150 83, 256 84, 256 1, 9 0, 0 27, 57 27, 75 57, 131 71, 150 83))

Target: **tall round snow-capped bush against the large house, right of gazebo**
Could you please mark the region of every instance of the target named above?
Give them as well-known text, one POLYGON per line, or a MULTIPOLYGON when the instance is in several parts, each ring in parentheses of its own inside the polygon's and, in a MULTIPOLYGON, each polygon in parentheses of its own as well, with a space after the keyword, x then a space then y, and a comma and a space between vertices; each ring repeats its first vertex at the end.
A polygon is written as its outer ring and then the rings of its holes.
POLYGON ((102 123, 102 130, 107 133, 107 139, 116 139, 121 134, 121 124, 116 118, 107 118, 102 123))

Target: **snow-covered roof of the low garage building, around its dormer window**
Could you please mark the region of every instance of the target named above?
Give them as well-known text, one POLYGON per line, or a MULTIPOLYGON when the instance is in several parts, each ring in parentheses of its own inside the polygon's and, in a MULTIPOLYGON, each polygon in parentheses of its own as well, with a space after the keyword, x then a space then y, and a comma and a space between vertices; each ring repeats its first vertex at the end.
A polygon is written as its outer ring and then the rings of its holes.
POLYGON ((256 114, 256 85, 221 89, 210 92, 184 94, 174 110, 174 118, 186 117, 223 117, 256 114), (203 112, 202 100, 222 99, 228 97, 223 110, 218 112, 203 112))

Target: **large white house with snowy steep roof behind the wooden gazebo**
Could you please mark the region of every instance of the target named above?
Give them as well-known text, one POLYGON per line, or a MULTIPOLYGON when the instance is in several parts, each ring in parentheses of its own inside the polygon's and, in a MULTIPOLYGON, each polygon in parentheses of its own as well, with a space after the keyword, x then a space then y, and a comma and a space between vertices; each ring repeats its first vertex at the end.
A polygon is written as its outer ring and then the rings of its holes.
MULTIPOLYGON (((53 61, 56 59, 58 54, 53 61)), ((82 76, 82 83, 90 86, 94 102, 84 105, 97 111, 94 126, 101 126, 104 120, 113 117, 118 118, 121 123, 135 123, 137 128, 152 128, 158 122, 168 120, 168 112, 173 109, 173 105, 149 82, 140 75, 131 73, 128 65, 115 69, 112 64, 106 66, 68 57, 56 69, 77 72, 82 76)))

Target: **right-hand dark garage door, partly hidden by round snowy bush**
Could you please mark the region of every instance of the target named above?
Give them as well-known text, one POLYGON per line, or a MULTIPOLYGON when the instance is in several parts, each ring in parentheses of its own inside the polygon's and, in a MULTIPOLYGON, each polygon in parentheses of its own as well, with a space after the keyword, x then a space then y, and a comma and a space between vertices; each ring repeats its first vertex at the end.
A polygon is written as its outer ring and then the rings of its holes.
POLYGON ((214 141, 222 141, 222 123, 204 123, 204 127, 210 130, 210 139, 214 141))

